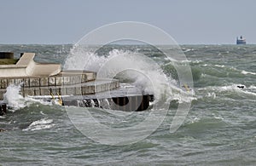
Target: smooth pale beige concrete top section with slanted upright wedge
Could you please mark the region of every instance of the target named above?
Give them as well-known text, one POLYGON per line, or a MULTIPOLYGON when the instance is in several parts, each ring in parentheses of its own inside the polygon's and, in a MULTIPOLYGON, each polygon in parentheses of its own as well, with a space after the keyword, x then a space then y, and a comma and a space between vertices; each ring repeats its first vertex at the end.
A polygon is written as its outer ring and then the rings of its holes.
POLYGON ((61 72, 61 64, 39 64, 34 53, 24 53, 15 65, 1 65, 0 77, 53 76, 61 72))

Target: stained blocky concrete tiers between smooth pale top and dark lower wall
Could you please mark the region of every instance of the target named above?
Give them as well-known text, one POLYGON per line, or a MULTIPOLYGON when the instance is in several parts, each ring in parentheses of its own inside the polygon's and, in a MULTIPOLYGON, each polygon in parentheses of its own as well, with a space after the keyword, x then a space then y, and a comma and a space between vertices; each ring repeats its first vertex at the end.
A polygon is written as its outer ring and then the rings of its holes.
POLYGON ((96 72, 60 72, 51 77, 1 77, 0 100, 6 88, 11 84, 20 85, 20 94, 23 96, 50 95, 84 95, 119 88, 118 80, 96 79, 96 72))

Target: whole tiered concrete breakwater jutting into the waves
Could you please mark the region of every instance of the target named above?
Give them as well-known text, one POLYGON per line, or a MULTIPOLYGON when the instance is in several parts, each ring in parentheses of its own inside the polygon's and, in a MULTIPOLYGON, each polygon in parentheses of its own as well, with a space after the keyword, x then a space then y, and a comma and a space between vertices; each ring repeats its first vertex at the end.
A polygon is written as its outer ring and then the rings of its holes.
MULTIPOLYGON (((0 53, 1 55, 1 53, 0 53)), ((102 107, 121 111, 148 109, 153 94, 120 88, 119 80, 96 79, 96 72, 61 71, 60 64, 40 64, 35 54, 22 53, 16 64, 0 65, 0 100, 11 85, 20 86, 20 94, 44 100, 58 96, 65 106, 102 107), (132 93, 127 93, 132 92, 132 93), (44 97, 43 97, 44 96, 44 97), (46 97, 45 97, 46 96, 46 97)), ((0 59, 13 54, 4 53, 0 59)))

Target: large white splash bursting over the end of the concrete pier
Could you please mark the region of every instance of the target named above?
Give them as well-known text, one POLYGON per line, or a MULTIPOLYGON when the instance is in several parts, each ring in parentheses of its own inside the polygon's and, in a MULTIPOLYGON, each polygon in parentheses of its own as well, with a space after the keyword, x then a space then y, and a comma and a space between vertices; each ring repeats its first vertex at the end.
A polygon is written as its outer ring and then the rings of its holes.
POLYGON ((98 55, 94 49, 79 46, 71 50, 64 68, 98 72, 98 77, 117 78, 143 92, 154 93, 156 100, 163 100, 163 94, 171 96, 172 89, 181 91, 175 79, 167 77, 153 60, 136 51, 113 49, 108 54, 98 55))

